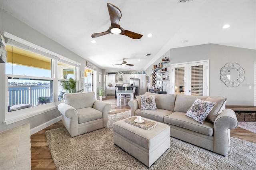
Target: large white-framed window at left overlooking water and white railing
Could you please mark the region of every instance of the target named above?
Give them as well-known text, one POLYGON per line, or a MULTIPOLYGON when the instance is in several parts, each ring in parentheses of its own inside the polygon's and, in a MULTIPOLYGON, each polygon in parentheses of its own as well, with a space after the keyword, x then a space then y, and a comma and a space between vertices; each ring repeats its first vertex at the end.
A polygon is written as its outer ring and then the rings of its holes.
POLYGON ((4 36, 8 83, 6 107, 9 106, 4 123, 9 125, 56 109, 62 95, 59 80, 62 77, 78 79, 81 64, 7 32, 4 36))

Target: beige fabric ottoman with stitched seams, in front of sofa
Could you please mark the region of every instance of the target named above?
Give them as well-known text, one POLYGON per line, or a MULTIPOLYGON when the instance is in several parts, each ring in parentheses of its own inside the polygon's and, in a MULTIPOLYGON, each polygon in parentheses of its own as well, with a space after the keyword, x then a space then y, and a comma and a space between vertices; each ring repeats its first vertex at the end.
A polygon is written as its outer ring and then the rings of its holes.
POLYGON ((113 124, 114 144, 150 167, 170 147, 170 127, 152 121, 157 123, 156 127, 144 130, 126 123, 125 120, 113 124))

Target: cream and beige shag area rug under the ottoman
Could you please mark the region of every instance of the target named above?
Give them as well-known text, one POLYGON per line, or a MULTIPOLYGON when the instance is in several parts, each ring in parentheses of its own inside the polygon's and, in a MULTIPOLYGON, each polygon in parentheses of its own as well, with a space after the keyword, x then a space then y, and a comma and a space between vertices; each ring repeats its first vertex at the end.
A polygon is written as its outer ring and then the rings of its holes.
POLYGON ((130 111, 108 116, 108 126, 70 137, 65 127, 46 131, 57 170, 250 170, 256 167, 256 144, 231 137, 227 156, 170 138, 170 148, 148 168, 113 143, 113 123, 130 111))

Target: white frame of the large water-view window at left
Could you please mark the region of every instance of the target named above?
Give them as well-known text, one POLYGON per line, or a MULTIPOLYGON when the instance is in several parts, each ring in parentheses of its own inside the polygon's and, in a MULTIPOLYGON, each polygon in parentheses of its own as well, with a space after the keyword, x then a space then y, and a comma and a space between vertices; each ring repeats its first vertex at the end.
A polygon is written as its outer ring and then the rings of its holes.
MULTIPOLYGON (((45 49, 45 48, 40 47, 38 45, 35 45, 33 43, 27 42, 26 40, 18 38, 16 36, 12 35, 12 34, 7 33, 7 32, 4 33, 4 36, 6 38, 10 38, 11 40, 14 40, 18 43, 22 43, 24 45, 27 45, 27 46, 32 47, 34 49, 37 49, 38 51, 42 51, 42 53, 46 53, 46 54, 48 53, 49 58, 52 59, 51 77, 34 77, 34 76, 5 74, 5 84, 7 84, 7 85, 6 85, 6 89, 5 89, 5 98, 6 98, 5 106, 6 106, 6 109, 5 109, 5 121, 4 121, 4 123, 6 123, 6 125, 9 125, 11 123, 22 121, 24 119, 28 119, 30 117, 40 115, 40 114, 45 113, 47 111, 51 111, 53 109, 56 109, 58 104, 63 102, 63 100, 58 101, 58 65, 57 65, 58 61, 62 61, 62 62, 69 63, 70 65, 74 65, 74 67, 75 67, 75 79, 77 79, 78 82, 79 82, 78 73, 79 73, 79 68, 80 68, 81 63, 78 63, 76 61, 68 59, 68 58, 66 58, 62 55, 54 53, 54 52, 52 52, 48 49, 45 49), (9 101, 7 100, 7 98, 8 98, 8 77, 34 78, 34 79, 44 79, 44 80, 53 81, 53 101, 50 102, 50 103, 43 104, 43 105, 36 105, 34 107, 29 107, 29 108, 20 109, 20 110, 17 110, 17 111, 12 111, 11 113, 8 112, 8 109, 7 109, 7 106, 8 106, 8 103, 9 103, 9 101)), ((45 55, 43 55, 43 56, 47 57, 45 55)))

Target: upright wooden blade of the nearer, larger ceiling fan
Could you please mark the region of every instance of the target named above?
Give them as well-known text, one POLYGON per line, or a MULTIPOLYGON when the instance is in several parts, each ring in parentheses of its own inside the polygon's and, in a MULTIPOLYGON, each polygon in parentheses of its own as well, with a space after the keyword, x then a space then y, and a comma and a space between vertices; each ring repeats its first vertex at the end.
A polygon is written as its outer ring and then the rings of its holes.
POLYGON ((111 27, 112 28, 120 28, 122 30, 122 28, 119 25, 119 21, 122 17, 122 13, 121 13, 120 9, 110 3, 107 3, 107 6, 108 6, 108 13, 110 16, 110 21, 111 21, 111 27))

